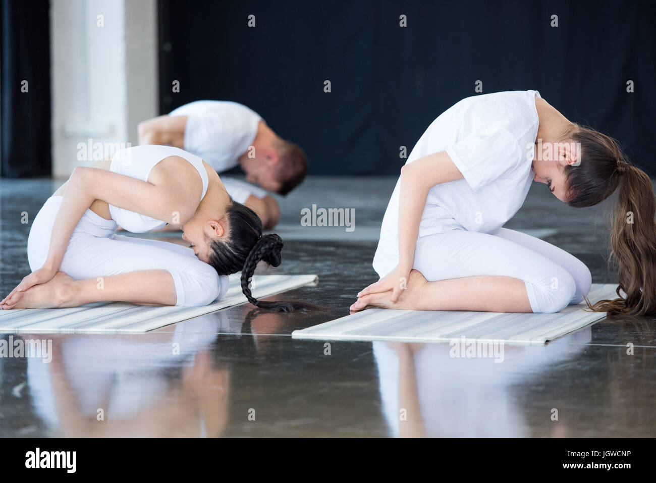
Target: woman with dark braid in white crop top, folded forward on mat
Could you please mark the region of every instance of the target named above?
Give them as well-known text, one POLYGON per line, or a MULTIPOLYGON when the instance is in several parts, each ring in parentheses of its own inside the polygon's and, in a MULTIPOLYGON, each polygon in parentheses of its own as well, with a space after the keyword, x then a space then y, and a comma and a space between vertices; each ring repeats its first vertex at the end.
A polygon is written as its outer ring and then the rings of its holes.
POLYGON ((72 307, 121 301, 138 305, 207 305, 242 270, 249 282, 260 260, 278 266, 283 242, 262 235, 253 210, 230 198, 203 159, 171 146, 136 146, 111 161, 76 167, 35 217, 28 239, 31 274, 0 308, 72 307), (119 236, 180 226, 190 245, 119 236))

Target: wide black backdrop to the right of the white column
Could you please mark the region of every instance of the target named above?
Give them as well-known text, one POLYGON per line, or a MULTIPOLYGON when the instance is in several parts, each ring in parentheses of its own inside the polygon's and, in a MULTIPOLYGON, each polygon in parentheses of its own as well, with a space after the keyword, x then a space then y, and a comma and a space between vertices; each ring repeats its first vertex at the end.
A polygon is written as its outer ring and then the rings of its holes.
POLYGON ((537 89, 654 175, 655 3, 159 0, 161 113, 236 100, 298 142, 310 173, 396 174, 400 146, 480 80, 537 89))

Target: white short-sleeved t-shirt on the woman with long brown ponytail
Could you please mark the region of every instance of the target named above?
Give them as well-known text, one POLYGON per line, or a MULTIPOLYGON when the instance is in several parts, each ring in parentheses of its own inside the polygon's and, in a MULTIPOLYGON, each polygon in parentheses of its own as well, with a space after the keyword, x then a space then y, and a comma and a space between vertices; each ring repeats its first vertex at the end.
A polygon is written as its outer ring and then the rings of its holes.
MULTIPOLYGON (((419 237, 453 229, 489 233, 520 209, 533 180, 537 91, 464 98, 435 119, 406 164, 446 151, 464 178, 430 188, 419 237)), ((400 180, 380 228, 374 268, 398 263, 400 180)))

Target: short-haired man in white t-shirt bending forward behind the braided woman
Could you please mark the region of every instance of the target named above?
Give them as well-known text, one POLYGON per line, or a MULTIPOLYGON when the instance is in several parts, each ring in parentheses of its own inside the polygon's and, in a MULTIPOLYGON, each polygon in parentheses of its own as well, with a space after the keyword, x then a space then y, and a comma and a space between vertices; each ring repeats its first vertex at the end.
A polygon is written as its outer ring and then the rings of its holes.
POLYGON ((176 146, 204 159, 219 174, 239 165, 248 183, 221 180, 235 201, 255 210, 266 229, 280 219, 277 201, 266 192, 286 195, 308 172, 307 158, 296 144, 280 138, 255 111, 237 102, 190 102, 143 121, 138 134, 139 144, 176 146))

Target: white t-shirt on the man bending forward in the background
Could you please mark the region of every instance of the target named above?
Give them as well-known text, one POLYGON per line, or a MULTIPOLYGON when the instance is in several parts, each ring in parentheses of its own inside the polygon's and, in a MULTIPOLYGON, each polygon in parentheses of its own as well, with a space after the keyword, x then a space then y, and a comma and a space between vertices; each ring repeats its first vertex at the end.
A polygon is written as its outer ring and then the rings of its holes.
POLYGON ((228 100, 197 100, 171 111, 188 116, 184 150, 199 156, 218 173, 235 167, 264 121, 255 111, 228 100))

